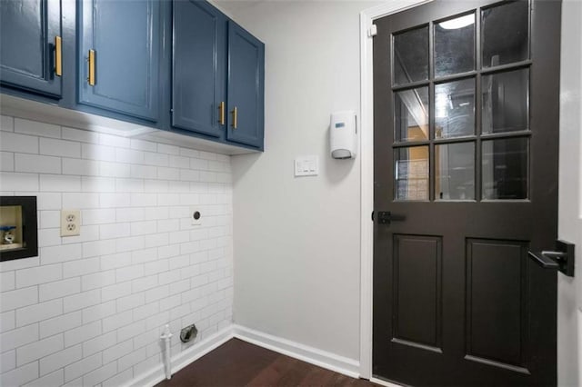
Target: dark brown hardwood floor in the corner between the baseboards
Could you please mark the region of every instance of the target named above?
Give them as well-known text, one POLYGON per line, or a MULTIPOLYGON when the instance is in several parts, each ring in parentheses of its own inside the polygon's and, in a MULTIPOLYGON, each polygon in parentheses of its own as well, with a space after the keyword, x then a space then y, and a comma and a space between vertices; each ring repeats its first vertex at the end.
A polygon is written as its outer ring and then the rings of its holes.
POLYGON ((377 384, 353 379, 248 342, 232 339, 176 372, 171 380, 157 384, 157 387, 170 386, 368 387, 377 384))

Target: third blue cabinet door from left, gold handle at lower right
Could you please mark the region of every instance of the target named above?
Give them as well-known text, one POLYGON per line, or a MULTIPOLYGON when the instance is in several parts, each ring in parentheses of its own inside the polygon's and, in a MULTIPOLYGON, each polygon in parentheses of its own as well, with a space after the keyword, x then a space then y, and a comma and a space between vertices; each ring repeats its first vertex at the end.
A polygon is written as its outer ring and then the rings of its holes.
POLYGON ((226 17, 206 2, 174 1, 172 125, 219 137, 225 127, 226 17))

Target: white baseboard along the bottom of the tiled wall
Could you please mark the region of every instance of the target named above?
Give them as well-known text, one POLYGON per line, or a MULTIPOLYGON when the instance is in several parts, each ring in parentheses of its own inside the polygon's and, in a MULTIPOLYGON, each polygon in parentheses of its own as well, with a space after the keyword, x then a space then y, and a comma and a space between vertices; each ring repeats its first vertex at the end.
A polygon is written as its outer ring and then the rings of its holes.
MULTIPOLYGON (((186 351, 177 353, 172 356, 172 374, 180 371, 191 362, 195 362, 197 359, 206 355, 206 353, 213 351, 232 338, 233 325, 229 325, 222 331, 216 332, 201 342, 197 342, 186 351)), ((164 379, 166 379, 166 372, 164 370, 164 364, 160 363, 150 372, 142 373, 135 377, 131 382, 127 383, 127 386, 154 386, 157 383, 162 382, 164 379)))

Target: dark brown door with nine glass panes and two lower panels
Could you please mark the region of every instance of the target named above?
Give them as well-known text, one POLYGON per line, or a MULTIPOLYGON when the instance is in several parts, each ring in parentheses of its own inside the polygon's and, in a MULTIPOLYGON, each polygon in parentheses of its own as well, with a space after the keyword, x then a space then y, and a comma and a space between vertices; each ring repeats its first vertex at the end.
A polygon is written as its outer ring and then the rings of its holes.
POLYGON ((560 9, 437 0, 376 20, 376 377, 556 385, 557 273, 527 251, 557 237, 560 9))

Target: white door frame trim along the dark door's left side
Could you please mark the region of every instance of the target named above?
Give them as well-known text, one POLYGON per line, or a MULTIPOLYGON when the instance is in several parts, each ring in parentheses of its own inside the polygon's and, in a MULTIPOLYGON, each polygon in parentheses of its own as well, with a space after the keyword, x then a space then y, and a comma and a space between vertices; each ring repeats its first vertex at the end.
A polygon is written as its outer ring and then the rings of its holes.
POLYGON ((360 377, 378 384, 396 384, 372 377, 372 296, 374 266, 374 20, 432 0, 396 0, 360 12, 360 377))

